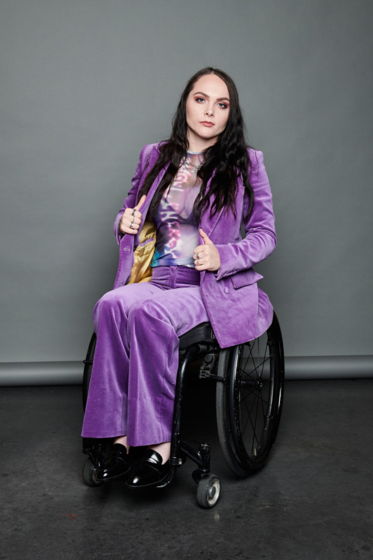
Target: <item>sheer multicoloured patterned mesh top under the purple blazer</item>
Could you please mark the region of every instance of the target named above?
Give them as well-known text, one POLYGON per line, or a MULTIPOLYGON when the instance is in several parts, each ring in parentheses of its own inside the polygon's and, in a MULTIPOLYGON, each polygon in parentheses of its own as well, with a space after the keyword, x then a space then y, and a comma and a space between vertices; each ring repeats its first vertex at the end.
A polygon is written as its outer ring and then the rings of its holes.
POLYGON ((154 215, 157 240, 152 267, 184 265, 195 268, 193 249, 198 242, 198 223, 192 215, 193 203, 201 181, 196 167, 202 155, 187 152, 187 160, 180 166, 170 188, 167 188, 154 215))

